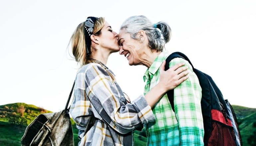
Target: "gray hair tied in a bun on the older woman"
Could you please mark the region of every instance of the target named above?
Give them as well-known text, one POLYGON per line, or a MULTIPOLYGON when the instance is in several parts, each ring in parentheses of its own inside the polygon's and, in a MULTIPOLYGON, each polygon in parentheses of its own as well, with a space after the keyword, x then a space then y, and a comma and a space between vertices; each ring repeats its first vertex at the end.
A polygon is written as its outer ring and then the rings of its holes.
POLYGON ((136 35, 139 31, 145 31, 149 40, 149 48, 156 49, 157 51, 163 51, 165 43, 169 42, 171 38, 171 28, 167 23, 158 22, 153 24, 145 16, 129 17, 123 22, 120 30, 124 30, 125 33, 129 33, 131 38, 136 40, 138 40, 136 35))

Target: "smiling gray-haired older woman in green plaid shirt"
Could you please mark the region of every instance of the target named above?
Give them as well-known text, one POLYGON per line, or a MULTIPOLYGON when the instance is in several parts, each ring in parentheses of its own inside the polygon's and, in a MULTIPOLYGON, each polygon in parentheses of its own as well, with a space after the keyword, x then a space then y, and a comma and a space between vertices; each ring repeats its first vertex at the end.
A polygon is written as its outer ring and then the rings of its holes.
MULTIPOLYGON (((145 16, 132 16, 125 20, 119 33, 121 55, 129 65, 148 67, 143 78, 147 94, 159 83, 160 66, 169 56, 164 50, 169 42, 171 28, 164 22, 153 24, 145 16)), ((156 122, 145 124, 147 145, 203 145, 203 118, 201 113, 201 88, 188 61, 173 59, 169 66, 185 63, 189 79, 174 89, 174 112, 165 94, 152 108, 156 122)))

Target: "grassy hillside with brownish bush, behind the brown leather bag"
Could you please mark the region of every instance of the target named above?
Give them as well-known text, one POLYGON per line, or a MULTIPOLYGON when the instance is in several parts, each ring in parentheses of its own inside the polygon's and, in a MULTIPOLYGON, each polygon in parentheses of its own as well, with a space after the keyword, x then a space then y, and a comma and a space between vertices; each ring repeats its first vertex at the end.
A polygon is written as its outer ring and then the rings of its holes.
MULTIPOLYGON (((23 136, 25 129, 39 114, 49 113, 52 111, 46 110, 34 105, 25 103, 14 103, 0 106, 0 145, 15 146, 21 145, 20 139, 23 136), (23 116, 21 116, 23 112, 23 116), (15 118, 10 122, 10 117, 15 118), (8 134, 5 134, 8 133, 8 134)), ((78 144, 78 130, 75 127, 75 122, 71 119, 74 135, 74 143, 78 144)))

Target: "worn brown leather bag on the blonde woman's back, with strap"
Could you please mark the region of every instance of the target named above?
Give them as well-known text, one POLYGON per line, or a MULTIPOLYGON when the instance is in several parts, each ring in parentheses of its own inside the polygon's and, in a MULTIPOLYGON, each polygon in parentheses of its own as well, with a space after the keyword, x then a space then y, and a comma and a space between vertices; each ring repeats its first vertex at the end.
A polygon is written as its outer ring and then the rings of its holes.
POLYGON ((72 125, 67 108, 73 88, 74 84, 64 110, 40 114, 28 125, 21 138, 22 146, 74 146, 72 125))

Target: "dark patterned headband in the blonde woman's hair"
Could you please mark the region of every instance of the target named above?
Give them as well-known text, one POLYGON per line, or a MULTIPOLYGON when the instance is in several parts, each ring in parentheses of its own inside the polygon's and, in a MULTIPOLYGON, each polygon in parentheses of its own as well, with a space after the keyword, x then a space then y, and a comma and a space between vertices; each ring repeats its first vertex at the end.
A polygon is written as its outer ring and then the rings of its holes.
POLYGON ((91 54, 91 35, 94 29, 94 23, 97 20, 97 17, 87 17, 86 21, 84 22, 84 36, 85 36, 85 43, 86 43, 86 57, 89 57, 91 54))

